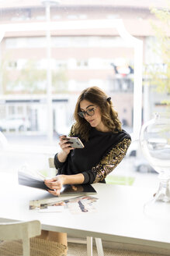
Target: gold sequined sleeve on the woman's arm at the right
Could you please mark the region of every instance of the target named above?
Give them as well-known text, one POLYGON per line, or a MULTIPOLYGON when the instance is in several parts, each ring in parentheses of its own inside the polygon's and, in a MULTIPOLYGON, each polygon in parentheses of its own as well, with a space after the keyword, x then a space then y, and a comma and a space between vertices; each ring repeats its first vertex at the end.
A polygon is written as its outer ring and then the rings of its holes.
POLYGON ((127 148, 130 146, 130 139, 123 139, 116 144, 109 153, 104 156, 98 165, 92 167, 92 176, 95 180, 92 183, 97 183, 106 178, 106 176, 116 168, 127 153, 127 148))

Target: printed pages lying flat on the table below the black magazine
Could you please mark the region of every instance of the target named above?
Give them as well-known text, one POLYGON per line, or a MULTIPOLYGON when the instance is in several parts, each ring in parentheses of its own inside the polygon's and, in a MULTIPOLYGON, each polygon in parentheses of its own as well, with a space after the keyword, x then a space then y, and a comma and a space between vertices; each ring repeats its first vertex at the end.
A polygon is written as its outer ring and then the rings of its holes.
POLYGON ((92 196, 53 197, 44 200, 29 201, 29 210, 37 212, 63 212, 69 210, 71 214, 81 214, 85 212, 96 212, 96 202, 98 198, 92 196))

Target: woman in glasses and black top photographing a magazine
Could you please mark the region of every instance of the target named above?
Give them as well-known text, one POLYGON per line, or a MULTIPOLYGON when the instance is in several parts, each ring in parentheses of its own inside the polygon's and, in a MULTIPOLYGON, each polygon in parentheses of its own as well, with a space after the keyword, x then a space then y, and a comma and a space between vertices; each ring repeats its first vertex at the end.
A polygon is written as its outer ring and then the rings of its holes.
POLYGON ((82 91, 74 116, 69 136, 79 137, 85 148, 71 148, 66 136, 60 137, 61 151, 54 157, 57 176, 45 181, 49 193, 56 196, 64 184, 105 183, 130 145, 130 135, 122 130, 111 98, 99 87, 82 91))

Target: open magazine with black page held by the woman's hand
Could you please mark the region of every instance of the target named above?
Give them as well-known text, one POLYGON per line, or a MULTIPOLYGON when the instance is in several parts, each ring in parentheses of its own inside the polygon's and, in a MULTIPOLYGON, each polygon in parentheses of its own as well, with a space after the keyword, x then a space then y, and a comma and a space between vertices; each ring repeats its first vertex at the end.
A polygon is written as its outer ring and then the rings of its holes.
MULTIPOLYGON (((35 187, 42 190, 49 190, 49 188, 43 182, 45 177, 40 173, 36 172, 35 175, 29 174, 27 172, 18 172, 18 181, 19 185, 27 187, 35 187)), ((95 189, 90 184, 81 184, 81 185, 64 185, 61 189, 62 195, 71 195, 71 194, 95 194, 95 189)))

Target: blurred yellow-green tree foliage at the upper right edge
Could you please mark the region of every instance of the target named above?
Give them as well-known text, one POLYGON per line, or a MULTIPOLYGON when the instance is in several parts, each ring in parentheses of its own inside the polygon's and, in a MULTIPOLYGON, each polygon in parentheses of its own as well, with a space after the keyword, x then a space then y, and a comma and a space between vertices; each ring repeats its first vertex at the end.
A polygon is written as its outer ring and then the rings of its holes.
POLYGON ((151 26, 158 40, 158 44, 154 44, 152 49, 160 57, 162 65, 152 64, 147 67, 146 73, 158 92, 170 93, 170 1, 167 3, 166 9, 151 9, 156 18, 156 22, 152 21, 151 26))

